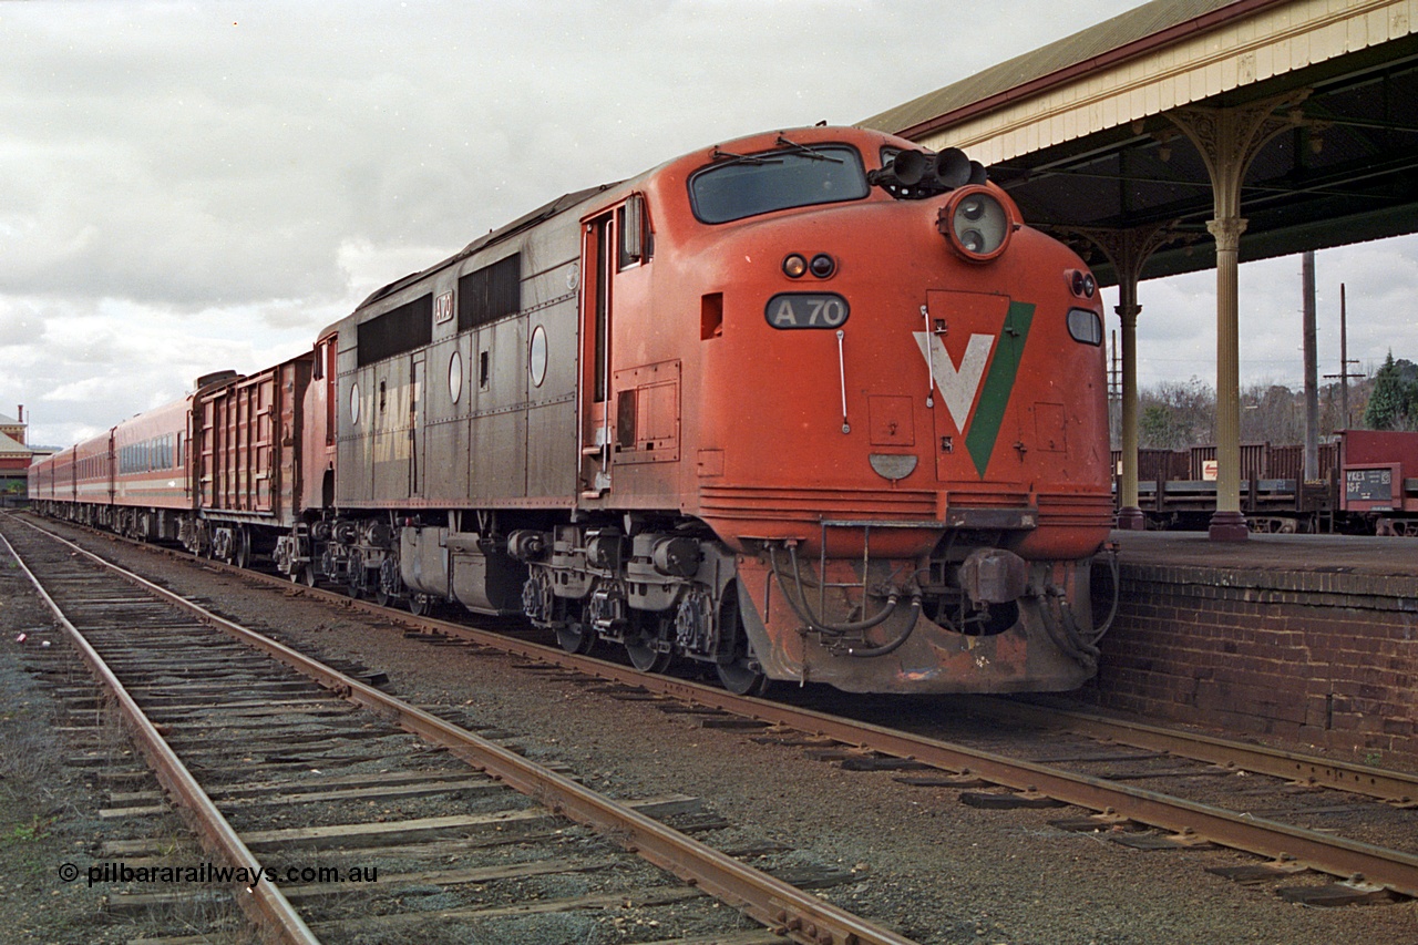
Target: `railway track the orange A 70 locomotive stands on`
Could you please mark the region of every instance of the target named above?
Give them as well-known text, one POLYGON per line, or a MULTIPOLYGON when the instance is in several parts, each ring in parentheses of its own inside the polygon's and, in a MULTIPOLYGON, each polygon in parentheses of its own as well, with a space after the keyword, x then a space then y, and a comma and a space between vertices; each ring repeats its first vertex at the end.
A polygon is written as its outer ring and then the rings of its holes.
MULTIPOLYGON (((272 578, 242 573, 252 580, 268 580, 288 587, 285 582, 272 578)), ((329 597, 342 606, 367 607, 386 619, 391 613, 372 603, 349 602, 342 595, 309 589, 301 589, 299 593, 329 597)), ((1282 891, 1296 901, 1340 904, 1418 895, 1418 857, 1412 850, 1395 850, 1385 843, 1346 839, 1336 836, 1333 827, 1323 824, 1323 817, 1336 810, 1358 810, 1363 819, 1363 807, 1347 799, 1340 803, 1309 805, 1312 807, 1309 813, 1317 813, 1322 823, 1297 826, 1286 820, 1292 814, 1305 813, 1303 810, 1276 812, 1276 819, 1258 816, 1255 813, 1258 806, 1273 805, 1265 800, 1258 805, 1255 792, 1242 795, 1248 800, 1242 800, 1239 809, 1177 796, 1184 793, 1183 786, 1188 782, 1194 785, 1205 783, 1208 778, 1232 776, 1239 780, 1251 775, 1266 775, 1282 779, 1271 789, 1272 793, 1283 795, 1289 790, 1323 797, 1323 793, 1316 792, 1343 790, 1346 795, 1360 793, 1381 799, 1383 803, 1370 810, 1397 813, 1402 829, 1394 833, 1412 836, 1411 807, 1412 799, 1418 797, 1418 780, 1402 773, 1275 752, 1187 732, 1117 724, 1098 717, 1066 718, 1054 709, 1029 709, 988 700, 970 702, 970 711, 994 712, 998 718, 1015 724, 1025 718, 1024 714, 1032 712, 1031 725, 1046 725, 1052 729, 1062 722, 1092 739, 1089 748, 1065 745, 1054 738, 1049 742, 1052 751, 1048 756, 1031 761, 1018 758, 1018 746, 1012 744, 990 751, 947 742, 930 734, 902 731, 899 724, 869 724, 815 711, 807 705, 736 697, 672 675, 645 675, 630 667, 567 654, 515 636, 427 617, 400 614, 394 619, 430 640, 468 641, 493 647, 523 657, 529 665, 535 664, 550 673, 576 674, 598 680, 613 688, 618 687, 628 698, 644 698, 648 694, 705 711, 732 714, 761 726, 763 731, 754 738, 800 745, 817 759, 878 770, 913 768, 917 770, 902 775, 905 780, 956 789, 967 803, 978 806, 1066 803, 1090 812, 1085 817, 1061 822, 1069 829, 1106 831, 1110 837, 1151 849, 1217 844, 1263 858, 1263 863, 1234 871, 1234 878, 1276 877, 1286 881, 1300 880, 1303 874, 1320 874, 1339 880, 1285 887, 1282 891), (988 708, 991 705, 995 708, 988 708), (1133 746, 1140 751, 1120 752, 1117 748, 1099 751, 1099 739, 1103 739, 1105 745, 1133 746), (1193 759, 1197 765, 1177 770, 1180 759, 1193 759), (1144 768, 1119 772, 1116 765, 1120 762, 1150 763, 1151 770, 1144 768), (1065 765, 1072 765, 1073 769, 1068 770, 1065 765), (1095 766, 1093 773, 1089 773, 1090 765, 1095 766), (1112 765, 1113 769, 1098 772, 1098 765, 1112 765), (1139 786, 1149 780, 1166 783, 1168 793, 1139 786)), ((893 705, 899 714, 900 702, 893 705)), ((1017 732, 1005 734, 1000 741, 1011 742, 1015 735, 1017 732)), ((1256 780, 1252 779, 1251 783, 1256 780)), ((1380 826, 1380 830, 1385 829, 1380 826)))

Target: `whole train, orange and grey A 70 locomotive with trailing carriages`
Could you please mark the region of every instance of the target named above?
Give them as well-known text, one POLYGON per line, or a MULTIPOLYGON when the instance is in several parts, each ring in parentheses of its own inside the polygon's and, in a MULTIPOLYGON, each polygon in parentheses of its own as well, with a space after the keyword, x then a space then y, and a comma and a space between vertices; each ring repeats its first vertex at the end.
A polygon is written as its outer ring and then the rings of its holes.
POLYGON ((30 494, 736 691, 1065 690, 1112 592, 1100 341, 960 152, 773 132, 553 200, 30 494))

